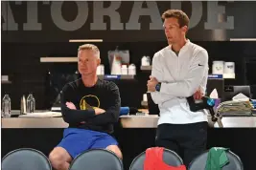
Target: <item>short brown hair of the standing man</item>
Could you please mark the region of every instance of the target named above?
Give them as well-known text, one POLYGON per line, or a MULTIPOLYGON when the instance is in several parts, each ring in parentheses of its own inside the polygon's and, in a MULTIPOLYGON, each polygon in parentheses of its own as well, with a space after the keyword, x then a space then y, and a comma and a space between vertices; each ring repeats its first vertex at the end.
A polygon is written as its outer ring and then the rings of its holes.
POLYGON ((167 19, 172 17, 177 19, 177 22, 180 28, 184 26, 187 26, 187 27, 189 26, 189 17, 184 11, 168 10, 162 14, 162 19, 167 19))

